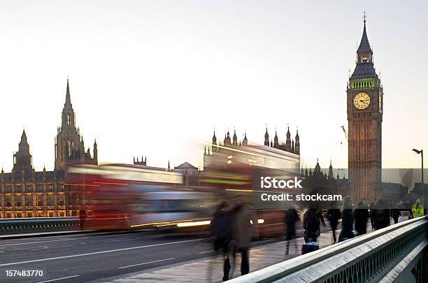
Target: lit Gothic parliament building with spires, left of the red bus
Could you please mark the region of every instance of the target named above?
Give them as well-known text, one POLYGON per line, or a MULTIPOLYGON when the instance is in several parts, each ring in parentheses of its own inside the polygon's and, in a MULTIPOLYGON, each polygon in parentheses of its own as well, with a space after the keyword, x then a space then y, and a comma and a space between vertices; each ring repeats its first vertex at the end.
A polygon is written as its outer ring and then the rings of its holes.
POLYGON ((0 175, 0 218, 71 217, 80 209, 79 194, 66 188, 67 163, 98 164, 97 141, 94 150, 85 150, 83 136, 76 126, 71 104, 69 80, 62 109, 61 126, 55 137, 55 168, 36 172, 32 165, 27 134, 22 131, 18 151, 13 154, 13 169, 0 175))

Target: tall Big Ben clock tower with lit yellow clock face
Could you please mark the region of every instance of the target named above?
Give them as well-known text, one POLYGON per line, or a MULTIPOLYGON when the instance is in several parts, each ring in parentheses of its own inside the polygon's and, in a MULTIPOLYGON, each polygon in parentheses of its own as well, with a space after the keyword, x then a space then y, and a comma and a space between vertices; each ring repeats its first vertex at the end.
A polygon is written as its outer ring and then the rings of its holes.
POLYGON ((347 90, 348 168, 354 202, 382 197, 383 89, 373 66, 373 51, 364 30, 357 50, 357 64, 347 90))

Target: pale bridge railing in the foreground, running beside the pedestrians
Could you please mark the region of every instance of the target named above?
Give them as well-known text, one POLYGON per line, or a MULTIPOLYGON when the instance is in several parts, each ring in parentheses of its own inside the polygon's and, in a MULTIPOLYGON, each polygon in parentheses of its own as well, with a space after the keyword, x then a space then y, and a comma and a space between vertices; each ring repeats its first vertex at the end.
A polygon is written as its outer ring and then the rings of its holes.
POLYGON ((420 217, 229 282, 428 282, 427 245, 428 219, 420 217))

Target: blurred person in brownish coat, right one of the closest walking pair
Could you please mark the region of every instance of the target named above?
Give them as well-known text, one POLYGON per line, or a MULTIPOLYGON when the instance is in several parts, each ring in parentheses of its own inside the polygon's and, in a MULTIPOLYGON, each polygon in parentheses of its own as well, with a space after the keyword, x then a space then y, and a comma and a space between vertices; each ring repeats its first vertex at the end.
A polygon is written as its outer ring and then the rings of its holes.
POLYGON ((257 217, 249 203, 241 198, 235 198, 231 208, 232 214, 232 238, 231 249, 233 249, 231 276, 236 266, 237 252, 241 253, 241 275, 250 272, 250 244, 253 238, 258 237, 257 217))

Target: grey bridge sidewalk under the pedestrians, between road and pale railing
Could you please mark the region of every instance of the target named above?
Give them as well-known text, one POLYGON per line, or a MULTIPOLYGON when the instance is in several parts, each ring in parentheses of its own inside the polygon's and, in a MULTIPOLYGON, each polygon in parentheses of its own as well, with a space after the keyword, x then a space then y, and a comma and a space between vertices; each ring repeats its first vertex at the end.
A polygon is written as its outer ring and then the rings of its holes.
MULTIPOLYGON (((340 231, 336 231, 337 235, 340 231)), ((269 240, 268 240, 269 241, 269 240)), ((331 231, 322 233, 318 238, 320 249, 331 245, 331 231)), ((263 242, 260 240, 259 242, 263 242)), ((267 241, 266 241, 267 242, 267 241)), ((271 266, 280 261, 292 259, 300 253, 301 245, 304 243, 301 236, 292 241, 290 254, 285 255, 285 241, 253 247, 250 249, 250 272, 271 266)), ((241 258, 237 256, 234 277, 241 275, 241 258)), ((222 279, 222 257, 197 259, 179 266, 167 266, 162 269, 154 268, 138 273, 129 273, 122 277, 112 277, 97 282, 134 283, 134 282, 221 282, 222 279), (210 278, 211 273, 211 278, 210 278)))

